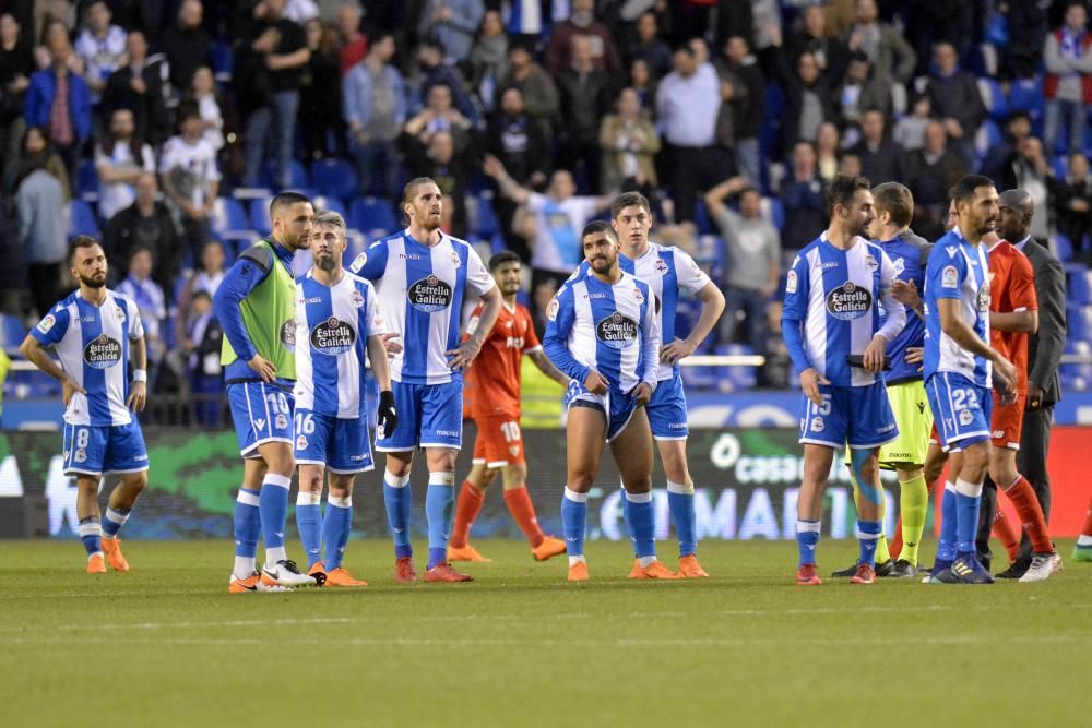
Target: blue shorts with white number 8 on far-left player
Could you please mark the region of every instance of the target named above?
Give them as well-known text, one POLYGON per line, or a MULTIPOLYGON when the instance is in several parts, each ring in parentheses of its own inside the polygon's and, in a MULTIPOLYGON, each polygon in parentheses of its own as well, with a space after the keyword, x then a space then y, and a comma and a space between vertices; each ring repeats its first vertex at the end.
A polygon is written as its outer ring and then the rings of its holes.
POLYGON ((144 433, 134 417, 129 425, 64 423, 64 475, 100 476, 147 469, 144 433))

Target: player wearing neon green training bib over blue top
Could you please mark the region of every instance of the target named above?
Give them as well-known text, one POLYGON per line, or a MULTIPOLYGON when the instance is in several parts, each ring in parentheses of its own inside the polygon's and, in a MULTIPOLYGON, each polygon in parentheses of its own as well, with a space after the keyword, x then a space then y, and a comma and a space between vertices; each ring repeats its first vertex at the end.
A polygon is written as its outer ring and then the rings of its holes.
POLYGON ((292 259, 310 242, 314 210, 296 192, 270 202, 273 231, 239 255, 213 297, 224 327, 221 363, 242 455, 235 501, 235 566, 228 590, 247 594, 318 583, 300 573, 284 548, 296 384, 296 282, 292 259), (258 537, 265 563, 256 568, 258 537))

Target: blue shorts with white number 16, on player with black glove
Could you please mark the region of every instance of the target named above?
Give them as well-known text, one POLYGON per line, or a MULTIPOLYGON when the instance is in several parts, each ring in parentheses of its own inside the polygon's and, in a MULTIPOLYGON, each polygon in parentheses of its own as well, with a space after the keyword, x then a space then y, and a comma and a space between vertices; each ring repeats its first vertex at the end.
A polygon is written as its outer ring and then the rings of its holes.
POLYGON ((339 475, 375 467, 367 419, 343 419, 297 409, 295 423, 293 434, 299 465, 321 465, 339 475))

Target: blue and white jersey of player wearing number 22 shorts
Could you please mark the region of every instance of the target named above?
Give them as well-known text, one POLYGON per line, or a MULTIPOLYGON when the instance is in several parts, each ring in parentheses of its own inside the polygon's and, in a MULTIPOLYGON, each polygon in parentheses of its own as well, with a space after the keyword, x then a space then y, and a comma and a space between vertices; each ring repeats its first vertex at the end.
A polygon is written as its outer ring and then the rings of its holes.
POLYGON ((963 321, 989 344, 989 258, 985 246, 972 246, 959 227, 937 240, 925 272, 925 379, 950 371, 990 389, 989 360, 964 350, 940 329, 941 298, 960 301, 963 321))

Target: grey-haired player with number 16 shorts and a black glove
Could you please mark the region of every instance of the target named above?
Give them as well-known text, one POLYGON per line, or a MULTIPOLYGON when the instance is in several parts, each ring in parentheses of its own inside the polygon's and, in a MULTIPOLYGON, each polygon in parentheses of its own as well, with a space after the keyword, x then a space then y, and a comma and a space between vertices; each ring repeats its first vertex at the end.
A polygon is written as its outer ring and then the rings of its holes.
POLYGON ((296 525, 308 574, 325 574, 327 586, 367 586, 342 566, 342 560, 353 524, 356 474, 375 467, 366 396, 369 359, 379 384, 379 428, 393 433, 397 414, 376 290, 342 267, 345 246, 342 216, 317 214, 310 246, 314 266, 296 284, 296 525), (327 470, 330 491, 323 517, 327 470))

